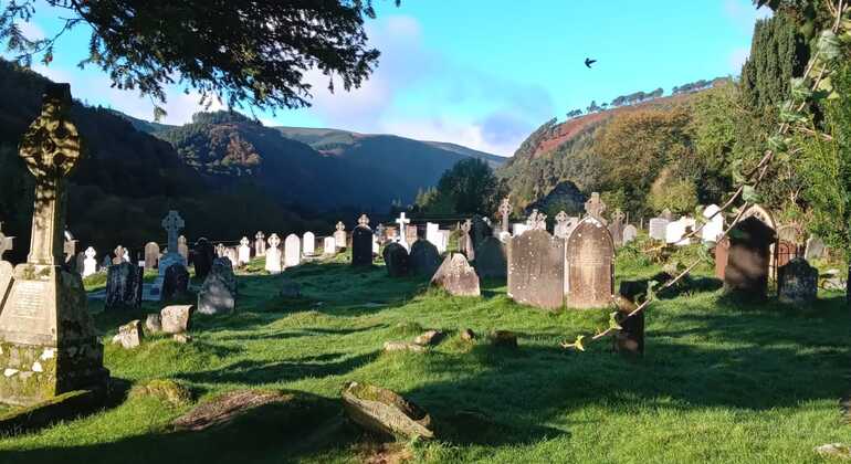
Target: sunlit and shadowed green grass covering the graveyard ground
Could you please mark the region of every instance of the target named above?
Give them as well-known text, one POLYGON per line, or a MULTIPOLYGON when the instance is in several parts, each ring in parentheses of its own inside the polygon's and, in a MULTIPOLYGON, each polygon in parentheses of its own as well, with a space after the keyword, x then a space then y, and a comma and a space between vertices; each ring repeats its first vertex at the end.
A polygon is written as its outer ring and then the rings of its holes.
MULTIPOLYGON (((619 278, 659 271, 621 261, 619 278)), ((842 295, 822 294, 806 309, 755 307, 716 287, 655 304, 647 354, 631 360, 608 341, 584 354, 558 347, 603 326, 606 310, 524 307, 505 296, 504 282, 485 282, 481 298, 453 298, 421 280, 390 280, 380 266, 353 270, 345 257, 280 276, 241 275, 238 313, 197 315, 193 342, 150 337, 134 350, 106 347, 114 377, 136 386, 172 379, 191 391, 190 401, 133 394, 97 414, 3 437, 0 462, 809 463, 822 462, 813 446, 851 442, 839 408, 851 390, 842 295), (301 283, 304 298, 277 297, 284 278, 301 283), (463 342, 458 333, 467 327, 514 330, 519 349, 463 342), (450 336, 427 354, 381 354, 385 341, 424 328, 450 336), (349 425, 339 405, 347 380, 417 402, 440 440, 380 443, 349 425), (295 397, 223 428, 170 432, 193 405, 244 388, 295 397), (456 414, 462 410, 485 418, 462 420, 470 418, 456 414)), ((146 304, 141 313, 158 309, 146 304)), ((96 318, 108 340, 141 316, 96 318)))

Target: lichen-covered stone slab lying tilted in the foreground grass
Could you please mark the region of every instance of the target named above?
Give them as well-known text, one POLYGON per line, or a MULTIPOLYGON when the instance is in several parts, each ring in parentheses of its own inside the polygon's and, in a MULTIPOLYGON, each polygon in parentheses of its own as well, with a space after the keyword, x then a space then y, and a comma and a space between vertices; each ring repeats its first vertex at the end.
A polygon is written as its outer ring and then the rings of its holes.
POLYGON ((368 431, 405 439, 434 437, 429 413, 396 392, 367 383, 347 382, 340 394, 346 415, 368 431))

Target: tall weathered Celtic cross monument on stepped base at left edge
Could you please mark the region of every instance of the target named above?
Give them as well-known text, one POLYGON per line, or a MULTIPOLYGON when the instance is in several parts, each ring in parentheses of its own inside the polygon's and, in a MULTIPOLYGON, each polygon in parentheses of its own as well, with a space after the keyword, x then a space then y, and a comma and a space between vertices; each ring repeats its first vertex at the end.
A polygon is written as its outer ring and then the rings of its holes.
POLYGON ((81 156, 69 85, 49 84, 43 102, 20 146, 35 179, 30 254, 14 270, 0 261, 0 402, 12 404, 103 390, 109 377, 83 282, 61 267, 67 176, 81 156))

